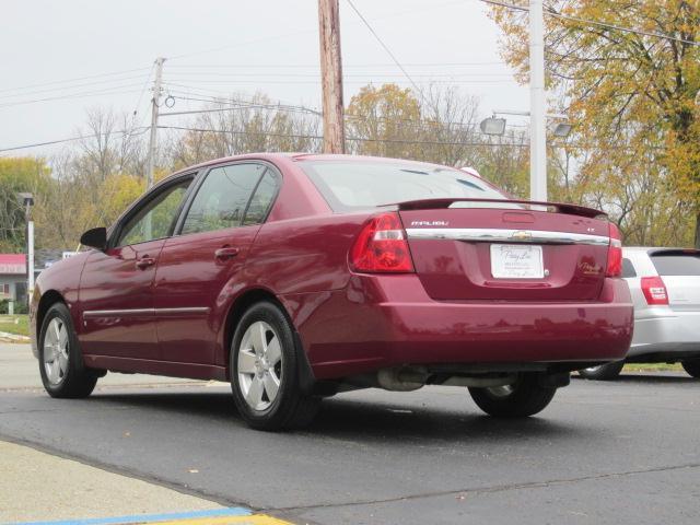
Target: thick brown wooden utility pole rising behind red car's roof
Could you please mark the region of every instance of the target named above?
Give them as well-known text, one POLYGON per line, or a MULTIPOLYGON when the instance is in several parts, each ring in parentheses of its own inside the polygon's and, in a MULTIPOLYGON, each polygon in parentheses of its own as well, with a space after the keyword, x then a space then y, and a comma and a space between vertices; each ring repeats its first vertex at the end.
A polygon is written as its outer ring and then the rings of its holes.
POLYGON ((338 0, 318 0, 320 83, 324 110, 324 153, 345 153, 342 62, 338 0))

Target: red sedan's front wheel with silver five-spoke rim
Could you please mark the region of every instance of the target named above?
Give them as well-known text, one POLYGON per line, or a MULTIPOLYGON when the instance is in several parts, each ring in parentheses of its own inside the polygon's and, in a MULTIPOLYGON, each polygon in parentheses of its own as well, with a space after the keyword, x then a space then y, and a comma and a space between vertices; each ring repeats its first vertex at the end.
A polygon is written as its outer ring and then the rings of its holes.
POLYGON ((85 368, 68 307, 56 303, 44 316, 38 340, 39 373, 51 397, 90 396, 101 376, 85 368))

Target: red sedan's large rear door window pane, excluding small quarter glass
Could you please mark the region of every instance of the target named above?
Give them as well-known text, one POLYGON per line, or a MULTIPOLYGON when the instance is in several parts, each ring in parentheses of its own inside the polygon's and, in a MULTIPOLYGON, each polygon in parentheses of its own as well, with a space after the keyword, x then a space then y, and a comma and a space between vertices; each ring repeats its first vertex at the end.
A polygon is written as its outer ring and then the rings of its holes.
POLYGON ((267 166, 232 164, 212 168, 187 212, 182 234, 236 228, 244 223, 250 196, 267 166))

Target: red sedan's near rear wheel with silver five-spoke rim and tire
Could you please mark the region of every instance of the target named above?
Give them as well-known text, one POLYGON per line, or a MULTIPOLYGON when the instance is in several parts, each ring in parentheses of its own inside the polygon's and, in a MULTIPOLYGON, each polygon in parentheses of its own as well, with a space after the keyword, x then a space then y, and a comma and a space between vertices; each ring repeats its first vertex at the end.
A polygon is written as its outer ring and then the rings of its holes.
POLYGON ((229 371, 238 412, 254 429, 306 427, 320 398, 301 392, 300 348, 291 323, 271 302, 250 306, 236 327, 229 371))

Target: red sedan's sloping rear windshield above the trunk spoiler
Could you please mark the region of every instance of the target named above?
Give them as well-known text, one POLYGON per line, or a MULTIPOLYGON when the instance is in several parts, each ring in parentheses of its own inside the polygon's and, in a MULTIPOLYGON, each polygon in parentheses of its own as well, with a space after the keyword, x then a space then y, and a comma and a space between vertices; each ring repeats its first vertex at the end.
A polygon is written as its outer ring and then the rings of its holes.
POLYGON ((478 177, 434 164, 304 161, 300 166, 334 211, 423 199, 508 199, 478 177))

